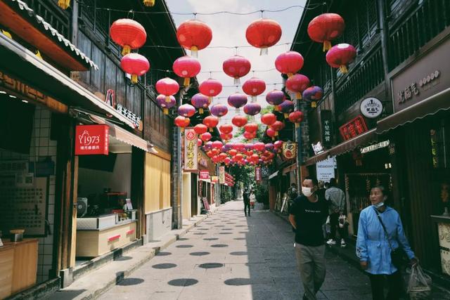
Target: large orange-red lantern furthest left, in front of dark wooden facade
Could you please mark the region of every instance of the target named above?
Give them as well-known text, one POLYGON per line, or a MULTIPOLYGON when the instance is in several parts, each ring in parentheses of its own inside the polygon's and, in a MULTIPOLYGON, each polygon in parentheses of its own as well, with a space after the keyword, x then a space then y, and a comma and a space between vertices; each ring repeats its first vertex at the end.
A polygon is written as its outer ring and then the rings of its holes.
POLYGON ((147 39, 144 27, 131 19, 115 20, 110 27, 110 36, 116 44, 122 46, 122 56, 129 54, 131 49, 141 48, 147 39))

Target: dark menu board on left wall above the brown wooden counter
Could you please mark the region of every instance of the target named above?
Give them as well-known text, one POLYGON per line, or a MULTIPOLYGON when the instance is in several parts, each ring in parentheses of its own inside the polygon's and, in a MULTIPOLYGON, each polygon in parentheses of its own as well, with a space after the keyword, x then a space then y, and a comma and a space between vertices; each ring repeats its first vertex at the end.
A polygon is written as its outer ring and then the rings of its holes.
POLYGON ((47 181, 47 177, 0 175, 0 230, 4 236, 16 228, 25 229, 27 236, 45 236, 47 181))

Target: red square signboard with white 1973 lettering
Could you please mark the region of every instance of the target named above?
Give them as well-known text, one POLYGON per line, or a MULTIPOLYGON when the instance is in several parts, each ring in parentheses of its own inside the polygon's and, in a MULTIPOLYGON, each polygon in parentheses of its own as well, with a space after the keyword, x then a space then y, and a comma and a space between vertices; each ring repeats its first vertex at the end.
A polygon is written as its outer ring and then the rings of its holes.
POLYGON ((108 155, 108 125, 77 125, 75 155, 108 155))

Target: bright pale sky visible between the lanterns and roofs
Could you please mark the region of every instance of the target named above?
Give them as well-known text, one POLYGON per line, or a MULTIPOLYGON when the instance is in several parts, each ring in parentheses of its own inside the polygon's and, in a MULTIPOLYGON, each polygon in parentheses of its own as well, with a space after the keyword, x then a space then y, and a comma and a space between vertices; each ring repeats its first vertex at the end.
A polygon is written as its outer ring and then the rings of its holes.
MULTIPOLYGON (((215 13, 218 11, 231 11, 236 13, 248 13, 260 10, 280 10, 289 6, 304 6, 306 0, 166 0, 169 11, 172 13, 175 25, 178 27, 181 22, 193 19, 193 15, 177 15, 176 13, 215 13)), ((303 8, 294 7, 282 12, 264 12, 264 18, 276 20, 282 28, 282 35, 278 44, 290 43, 293 41, 295 31, 302 16, 303 8)), ((212 41, 210 46, 250 46, 245 39, 245 30, 254 20, 261 18, 261 13, 252 15, 231 15, 221 13, 217 15, 197 15, 197 19, 206 22, 212 29, 212 41)), ((238 55, 244 56, 252 64, 252 70, 270 70, 268 72, 249 72, 240 79, 243 84, 250 77, 258 77, 266 81, 266 91, 259 96, 257 101, 262 107, 267 105, 265 94, 273 89, 281 89, 281 73, 275 69, 275 58, 280 53, 289 51, 290 45, 273 46, 269 48, 269 54, 259 56, 259 48, 238 48, 238 55), (271 70, 273 69, 273 70, 271 70), (274 85, 276 84, 276 85, 274 85)), ((190 51, 187 51, 188 53, 190 51)), ((227 76, 222 71, 222 63, 227 58, 234 56, 236 49, 205 48, 198 52, 198 60, 202 65, 202 72, 198 74, 199 83, 210 77, 209 71, 219 71, 211 74, 211 77, 221 81, 224 85, 219 96, 214 97, 212 104, 227 104, 226 98, 232 93, 239 91, 243 93, 241 87, 233 85, 233 78, 227 76)), ((248 98, 250 102, 250 97, 248 98)), ((235 115, 234 108, 229 106, 229 113, 221 117, 219 124, 231 124, 231 118, 235 115)), ((241 115, 245 115, 241 109, 241 115)), ((256 118, 257 122, 259 117, 256 118)))

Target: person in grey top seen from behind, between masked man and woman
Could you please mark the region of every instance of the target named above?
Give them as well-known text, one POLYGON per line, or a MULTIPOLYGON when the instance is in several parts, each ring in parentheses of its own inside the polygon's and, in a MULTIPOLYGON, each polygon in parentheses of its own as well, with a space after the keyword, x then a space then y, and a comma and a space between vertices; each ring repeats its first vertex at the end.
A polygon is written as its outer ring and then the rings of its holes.
POLYGON ((328 211, 330 213, 330 239, 326 243, 330 246, 336 244, 336 228, 338 228, 340 246, 345 247, 347 226, 340 224, 340 220, 345 219, 345 193, 336 186, 335 178, 330 178, 330 188, 325 190, 325 199, 328 201, 328 211))

